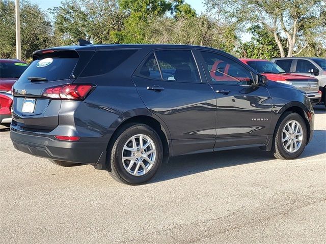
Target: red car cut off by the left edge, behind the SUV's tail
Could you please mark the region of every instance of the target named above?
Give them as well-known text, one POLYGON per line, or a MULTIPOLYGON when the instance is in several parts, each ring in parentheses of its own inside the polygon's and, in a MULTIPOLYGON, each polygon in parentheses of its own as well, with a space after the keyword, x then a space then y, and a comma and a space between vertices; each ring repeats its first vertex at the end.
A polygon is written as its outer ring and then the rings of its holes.
POLYGON ((0 125, 11 123, 11 87, 27 67, 18 59, 0 59, 0 125))

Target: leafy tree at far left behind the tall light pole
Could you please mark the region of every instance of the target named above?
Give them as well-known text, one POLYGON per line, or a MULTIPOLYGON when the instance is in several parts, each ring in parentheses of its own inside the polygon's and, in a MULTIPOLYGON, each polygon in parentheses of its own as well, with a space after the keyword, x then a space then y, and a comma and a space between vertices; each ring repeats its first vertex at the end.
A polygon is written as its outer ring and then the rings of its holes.
MULTIPOLYGON (((0 57, 16 56, 15 4, 11 0, 0 1, 0 57)), ((48 17, 38 5, 20 1, 20 28, 22 59, 31 59, 38 49, 52 46, 52 30, 48 17), (37 17, 36 17, 37 16, 37 17)))

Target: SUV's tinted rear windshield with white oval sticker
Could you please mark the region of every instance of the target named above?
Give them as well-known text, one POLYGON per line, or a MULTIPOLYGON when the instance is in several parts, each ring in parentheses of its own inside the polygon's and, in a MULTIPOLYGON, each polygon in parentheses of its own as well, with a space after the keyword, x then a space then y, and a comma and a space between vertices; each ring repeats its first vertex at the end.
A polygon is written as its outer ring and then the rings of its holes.
POLYGON ((56 51, 40 56, 21 76, 46 78, 48 81, 69 79, 78 61, 76 51, 56 51))

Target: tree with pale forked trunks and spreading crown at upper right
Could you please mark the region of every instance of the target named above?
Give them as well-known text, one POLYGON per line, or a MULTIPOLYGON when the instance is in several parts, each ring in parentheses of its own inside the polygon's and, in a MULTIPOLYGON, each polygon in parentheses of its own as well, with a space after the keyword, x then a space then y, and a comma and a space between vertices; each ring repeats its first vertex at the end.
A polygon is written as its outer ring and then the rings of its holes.
POLYGON ((213 10, 244 24, 260 24, 274 36, 282 57, 301 53, 325 32, 324 0, 205 0, 213 10), (284 45, 279 37, 286 38, 284 45))

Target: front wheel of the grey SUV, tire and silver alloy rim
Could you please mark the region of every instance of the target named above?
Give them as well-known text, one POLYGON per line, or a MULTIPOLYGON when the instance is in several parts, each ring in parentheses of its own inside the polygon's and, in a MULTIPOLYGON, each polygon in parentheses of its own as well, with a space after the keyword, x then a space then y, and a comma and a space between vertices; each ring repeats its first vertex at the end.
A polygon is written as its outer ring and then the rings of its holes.
POLYGON ((283 160, 299 157, 306 147, 307 136, 304 119, 295 112, 285 112, 274 133, 272 147, 274 157, 283 160))

